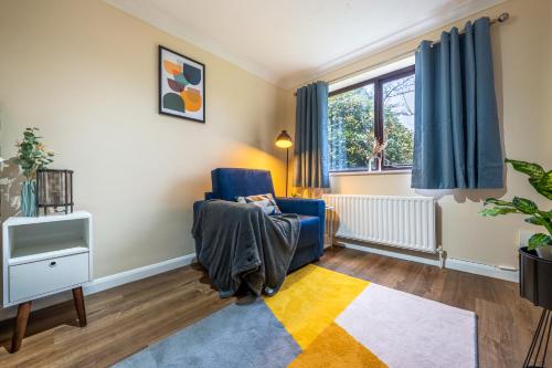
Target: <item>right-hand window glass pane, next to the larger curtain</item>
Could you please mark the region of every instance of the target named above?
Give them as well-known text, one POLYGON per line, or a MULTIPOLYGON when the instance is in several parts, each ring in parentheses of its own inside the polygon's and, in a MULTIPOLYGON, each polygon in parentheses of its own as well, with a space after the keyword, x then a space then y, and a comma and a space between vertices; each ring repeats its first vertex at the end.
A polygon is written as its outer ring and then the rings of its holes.
POLYGON ((385 166, 411 166, 414 154, 414 75, 383 83, 385 166))

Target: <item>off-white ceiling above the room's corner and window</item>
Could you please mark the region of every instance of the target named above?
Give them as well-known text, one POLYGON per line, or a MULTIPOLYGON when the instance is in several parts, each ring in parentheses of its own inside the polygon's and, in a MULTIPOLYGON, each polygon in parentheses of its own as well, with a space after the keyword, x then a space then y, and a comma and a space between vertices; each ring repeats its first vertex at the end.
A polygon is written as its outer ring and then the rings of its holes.
POLYGON ((290 88, 503 0, 105 1, 290 88))

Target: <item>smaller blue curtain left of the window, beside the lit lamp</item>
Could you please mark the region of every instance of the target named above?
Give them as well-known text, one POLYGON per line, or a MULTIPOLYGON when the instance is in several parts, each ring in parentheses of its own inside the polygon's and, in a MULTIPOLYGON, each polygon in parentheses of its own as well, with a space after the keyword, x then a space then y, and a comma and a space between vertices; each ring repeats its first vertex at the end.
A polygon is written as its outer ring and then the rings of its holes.
POLYGON ((297 90, 294 185, 329 188, 328 84, 316 82, 297 90))

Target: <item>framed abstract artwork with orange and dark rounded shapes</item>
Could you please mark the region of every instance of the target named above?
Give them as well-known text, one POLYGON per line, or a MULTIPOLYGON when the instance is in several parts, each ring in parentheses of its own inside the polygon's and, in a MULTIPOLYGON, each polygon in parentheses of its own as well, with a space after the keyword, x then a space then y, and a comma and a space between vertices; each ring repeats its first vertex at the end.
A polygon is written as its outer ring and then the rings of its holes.
POLYGON ((159 114, 205 123, 205 65, 159 46, 159 114))

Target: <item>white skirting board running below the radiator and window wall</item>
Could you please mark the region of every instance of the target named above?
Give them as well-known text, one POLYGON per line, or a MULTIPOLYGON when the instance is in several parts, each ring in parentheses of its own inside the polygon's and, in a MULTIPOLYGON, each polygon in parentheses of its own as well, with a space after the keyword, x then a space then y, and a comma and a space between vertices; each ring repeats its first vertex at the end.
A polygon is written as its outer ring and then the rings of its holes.
MULTIPOLYGON (((350 243, 344 243, 342 241, 339 241, 339 245, 344 246, 344 248, 354 249, 354 250, 358 250, 361 252, 381 254, 381 255, 386 255, 386 256, 401 259, 401 260, 405 260, 405 261, 412 261, 412 262, 418 262, 418 263, 424 263, 424 264, 431 264, 434 266, 439 266, 438 260, 433 260, 429 257, 417 256, 417 255, 412 255, 412 254, 403 254, 403 253, 399 253, 399 252, 371 248, 369 245, 350 244, 350 243)), ((519 282, 519 272, 518 271, 501 270, 497 266, 492 266, 489 264, 476 263, 476 262, 465 261, 465 260, 459 260, 459 259, 446 257, 445 269, 474 273, 476 275, 489 276, 489 277, 506 280, 506 281, 510 281, 510 282, 514 282, 514 283, 519 282)))

